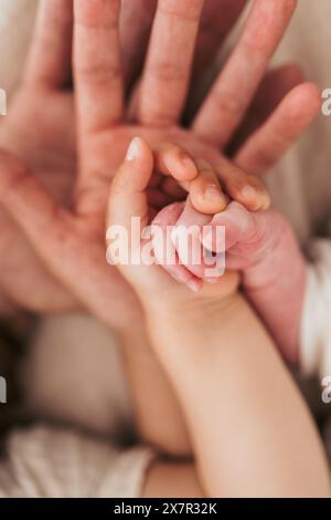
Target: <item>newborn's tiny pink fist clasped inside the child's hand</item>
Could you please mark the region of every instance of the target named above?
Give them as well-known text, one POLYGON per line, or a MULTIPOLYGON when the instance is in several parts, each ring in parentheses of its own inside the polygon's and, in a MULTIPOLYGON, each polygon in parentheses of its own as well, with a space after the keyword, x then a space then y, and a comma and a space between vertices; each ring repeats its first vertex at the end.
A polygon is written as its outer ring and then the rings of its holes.
MULTIPOLYGON (((204 168, 211 169, 206 164, 204 168)), ((217 278, 223 274, 224 267, 227 270, 242 271, 246 289, 260 288, 274 281, 271 257, 277 254, 279 243, 281 242, 282 246, 284 262, 287 262, 284 242, 287 240, 292 243, 293 241, 289 225, 274 209, 253 212, 237 201, 229 201, 226 209, 211 218, 210 215, 196 210, 192 193, 185 204, 180 207, 178 205, 166 207, 156 217, 153 223, 164 229, 173 226, 172 247, 181 261, 179 266, 168 266, 162 261, 162 256, 158 254, 157 249, 159 263, 178 279, 183 277, 184 271, 193 274, 200 280, 200 283, 196 280, 196 288, 201 288, 202 281, 216 282, 217 278), (185 229, 192 226, 199 229, 192 236, 191 258, 188 258, 185 240, 181 238, 184 237, 185 229), (223 230, 222 235, 221 230, 223 230), (210 259, 209 252, 213 253, 214 258, 225 254, 220 272, 211 269, 209 262, 194 262, 194 259, 199 259, 199 254, 203 259, 210 259)), ((292 252, 292 247, 289 251, 292 252)))

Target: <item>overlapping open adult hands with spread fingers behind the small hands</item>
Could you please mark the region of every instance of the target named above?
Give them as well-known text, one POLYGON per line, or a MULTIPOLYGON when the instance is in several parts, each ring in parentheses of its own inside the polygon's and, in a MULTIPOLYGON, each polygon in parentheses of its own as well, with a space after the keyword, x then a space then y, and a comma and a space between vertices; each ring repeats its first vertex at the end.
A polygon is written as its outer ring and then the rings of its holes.
MULTIPOLYGON (((201 15, 211 14, 210 10, 202 12, 203 3, 159 2, 145 70, 131 105, 134 124, 129 125, 124 105, 119 1, 74 2, 76 111, 74 93, 67 89, 72 70, 72 1, 43 2, 24 81, 0 132, 3 147, 22 159, 21 163, 4 153, 1 159, 1 201, 6 212, 1 212, 0 281, 11 302, 42 312, 83 305, 113 326, 121 326, 127 319, 139 315, 135 295, 118 272, 110 271, 104 251, 109 181, 129 141, 137 134, 150 142, 166 138, 179 142, 194 155, 212 160, 225 184, 228 171, 236 175, 239 196, 247 178, 229 167, 207 142, 224 147, 234 134, 295 2, 268 0, 271 10, 265 10, 265 0, 255 2, 232 59, 192 129, 184 131, 177 122, 186 97, 199 21, 201 15), (268 31, 257 37, 256 25, 261 17, 268 31), (253 35, 259 44, 249 44, 253 35), (244 102, 242 98, 238 102, 233 94, 228 97, 228 92, 236 92, 247 52, 255 58, 256 66, 246 82, 247 95, 244 102), (223 119, 226 125, 215 124, 223 119), (212 131, 209 135, 206 128, 212 131)), ((237 13, 243 3, 237 2, 237 13)), ((228 20, 233 22, 234 18, 228 20)), ((145 38, 141 33, 138 37, 145 38)), ((130 58, 132 39, 126 45, 126 55, 130 58)), ((205 39, 201 45, 206 45, 205 39)), ((199 70, 201 58, 196 63, 199 70)), ((129 64, 126 71, 130 75, 129 64)), ((241 166, 247 164, 258 171, 277 159, 313 117, 316 100, 317 91, 311 85, 301 85, 288 94, 263 128, 241 148, 236 157, 241 166), (303 115, 288 117, 285 124, 284 115, 293 103, 303 106, 303 115), (281 142, 280 131, 284 131, 281 142)))

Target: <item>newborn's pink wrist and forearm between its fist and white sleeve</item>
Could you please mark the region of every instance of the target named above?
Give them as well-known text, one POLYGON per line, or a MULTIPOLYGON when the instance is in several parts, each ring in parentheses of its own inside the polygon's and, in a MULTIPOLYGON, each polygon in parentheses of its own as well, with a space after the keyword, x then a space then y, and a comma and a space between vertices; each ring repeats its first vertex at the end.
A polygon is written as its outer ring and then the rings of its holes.
POLYGON ((278 241, 244 270, 243 284, 285 358, 298 363, 307 262, 289 225, 280 216, 278 222, 278 241))

